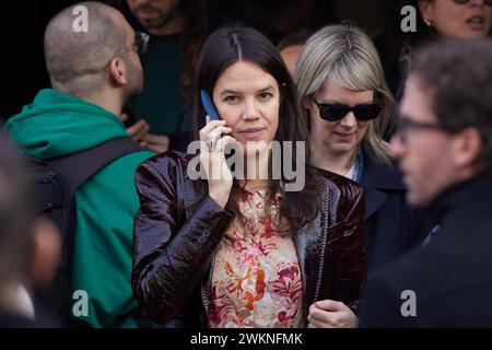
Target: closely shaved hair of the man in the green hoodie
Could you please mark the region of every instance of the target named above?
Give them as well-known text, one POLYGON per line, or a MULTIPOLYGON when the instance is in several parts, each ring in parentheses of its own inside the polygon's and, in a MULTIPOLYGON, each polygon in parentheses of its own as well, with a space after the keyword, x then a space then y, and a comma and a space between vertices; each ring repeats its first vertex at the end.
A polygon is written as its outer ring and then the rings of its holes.
MULTIPOLYGON (((56 14, 45 31, 46 67, 52 86, 83 97, 104 88, 104 68, 119 49, 127 34, 117 23, 118 10, 101 2, 86 1, 56 14), (72 13, 78 5, 87 9, 87 32, 75 32, 72 13)), ((122 18, 122 15, 121 15, 122 18)))

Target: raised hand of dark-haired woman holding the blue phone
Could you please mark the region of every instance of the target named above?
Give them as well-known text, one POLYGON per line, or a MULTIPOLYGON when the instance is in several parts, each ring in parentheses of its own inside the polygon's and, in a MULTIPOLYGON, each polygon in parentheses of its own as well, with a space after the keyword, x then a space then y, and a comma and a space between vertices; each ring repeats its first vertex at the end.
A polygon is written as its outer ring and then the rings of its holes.
POLYGON ((225 120, 210 120, 207 116, 207 125, 199 132, 200 162, 207 174, 209 196, 222 208, 227 203, 233 185, 233 176, 224 154, 225 145, 236 142, 227 135, 231 131, 232 129, 225 126, 225 120))

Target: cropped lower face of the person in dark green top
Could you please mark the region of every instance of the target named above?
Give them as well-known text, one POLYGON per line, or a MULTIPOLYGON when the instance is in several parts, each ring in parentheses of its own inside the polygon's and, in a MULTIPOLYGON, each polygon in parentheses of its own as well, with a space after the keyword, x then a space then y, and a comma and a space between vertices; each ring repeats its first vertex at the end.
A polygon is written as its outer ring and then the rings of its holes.
POLYGON ((179 19, 181 3, 181 0, 127 0, 131 13, 153 35, 173 34, 169 23, 179 19))

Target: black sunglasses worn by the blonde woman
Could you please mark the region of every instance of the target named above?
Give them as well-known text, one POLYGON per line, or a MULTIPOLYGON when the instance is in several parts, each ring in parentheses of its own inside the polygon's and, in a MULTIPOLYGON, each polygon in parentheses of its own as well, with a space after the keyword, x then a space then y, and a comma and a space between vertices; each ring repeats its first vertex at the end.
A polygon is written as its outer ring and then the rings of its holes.
POLYGON ((348 106, 342 104, 329 104, 319 103, 313 95, 313 102, 319 108, 319 116, 328 121, 338 121, 343 119, 349 112, 353 112, 353 115, 359 121, 368 121, 376 119, 380 112, 385 108, 385 102, 380 94, 375 94, 375 102, 366 103, 356 106, 348 106))

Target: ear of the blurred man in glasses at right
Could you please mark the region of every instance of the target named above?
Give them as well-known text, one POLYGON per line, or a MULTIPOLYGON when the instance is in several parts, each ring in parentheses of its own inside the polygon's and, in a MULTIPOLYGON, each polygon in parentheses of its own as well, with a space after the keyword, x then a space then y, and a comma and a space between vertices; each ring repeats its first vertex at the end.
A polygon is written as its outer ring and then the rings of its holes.
POLYGON ((468 127, 455 136, 453 152, 455 165, 459 167, 472 166, 483 147, 483 140, 477 128, 468 127))

